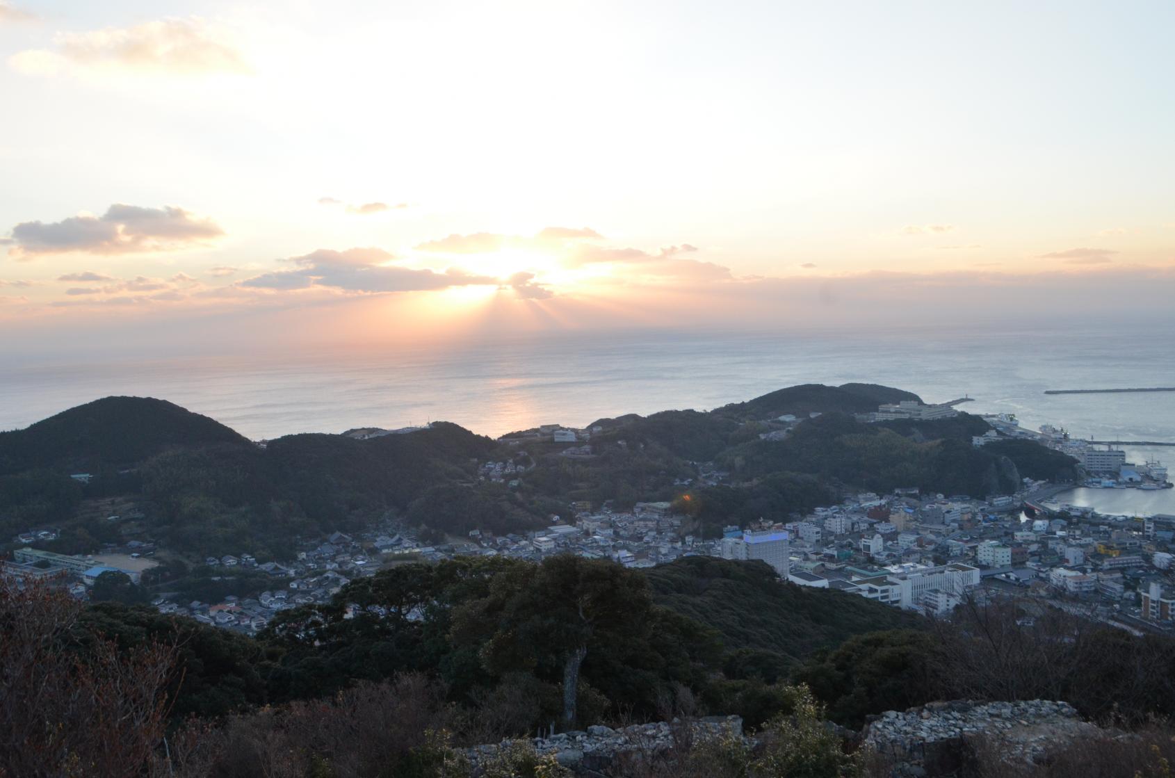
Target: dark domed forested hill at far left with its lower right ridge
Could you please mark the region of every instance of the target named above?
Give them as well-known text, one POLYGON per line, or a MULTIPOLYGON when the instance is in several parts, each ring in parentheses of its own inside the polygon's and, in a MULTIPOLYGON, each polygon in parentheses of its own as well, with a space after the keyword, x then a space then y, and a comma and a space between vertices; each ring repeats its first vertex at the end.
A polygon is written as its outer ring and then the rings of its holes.
MULTIPOLYGON (((261 447, 169 402, 108 397, 0 432, 0 542, 48 525, 61 530, 48 548, 66 554, 135 537, 194 556, 289 558, 298 537, 358 529, 407 512, 438 485, 475 482, 477 462, 496 447, 445 422, 367 441, 303 434, 261 447), (70 477, 79 472, 92 482, 70 477), (110 511, 99 499, 133 505, 134 521, 105 522, 110 511)), ((523 508, 510 516, 502 523, 543 521, 523 508)))

